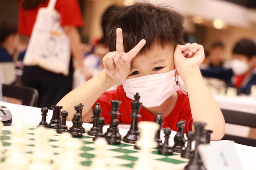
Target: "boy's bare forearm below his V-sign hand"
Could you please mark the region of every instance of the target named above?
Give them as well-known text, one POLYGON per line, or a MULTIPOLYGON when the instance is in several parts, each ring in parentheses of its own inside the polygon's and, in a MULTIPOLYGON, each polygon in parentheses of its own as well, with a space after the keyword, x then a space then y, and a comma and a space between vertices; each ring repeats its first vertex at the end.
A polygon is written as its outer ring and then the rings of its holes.
POLYGON ((57 105, 62 106, 62 110, 68 111, 69 115, 67 120, 71 121, 73 115, 76 113, 74 110, 75 105, 79 103, 84 105, 82 113, 82 116, 84 116, 90 111, 96 100, 116 83, 118 82, 108 77, 105 70, 103 70, 98 75, 64 96, 57 105))

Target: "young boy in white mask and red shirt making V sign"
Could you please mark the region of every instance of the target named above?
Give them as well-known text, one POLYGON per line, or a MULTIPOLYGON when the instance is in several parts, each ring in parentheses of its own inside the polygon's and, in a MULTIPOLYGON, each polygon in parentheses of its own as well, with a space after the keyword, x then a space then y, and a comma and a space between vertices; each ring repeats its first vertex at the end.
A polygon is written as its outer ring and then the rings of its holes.
POLYGON ((106 124, 110 123, 110 100, 120 100, 119 122, 131 123, 131 101, 136 92, 143 103, 139 119, 153 121, 161 111, 164 127, 177 130, 176 123, 186 120, 185 133, 192 130, 192 121, 207 123, 213 130, 212 140, 220 140, 225 122, 220 108, 201 77, 199 65, 204 49, 196 43, 183 44, 183 17, 161 6, 136 3, 113 12, 108 22, 107 41, 110 51, 103 58, 105 69, 96 77, 67 94, 57 105, 67 110, 69 120, 74 105, 84 104, 84 122, 92 122, 96 102, 102 107, 106 124), (115 41, 116 40, 116 41, 115 41), (176 47, 176 48, 175 48, 176 47), (180 74, 189 96, 176 85, 180 74), (114 91, 107 91, 123 81, 114 91))

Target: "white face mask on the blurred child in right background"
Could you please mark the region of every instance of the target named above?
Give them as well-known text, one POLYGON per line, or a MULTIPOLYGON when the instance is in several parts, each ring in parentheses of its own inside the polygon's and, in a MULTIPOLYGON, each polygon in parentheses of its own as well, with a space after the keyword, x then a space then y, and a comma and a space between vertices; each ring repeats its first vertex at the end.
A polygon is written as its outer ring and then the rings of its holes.
POLYGON ((239 59, 233 59, 230 63, 230 66, 235 75, 244 74, 249 70, 249 65, 247 62, 241 61, 239 59))

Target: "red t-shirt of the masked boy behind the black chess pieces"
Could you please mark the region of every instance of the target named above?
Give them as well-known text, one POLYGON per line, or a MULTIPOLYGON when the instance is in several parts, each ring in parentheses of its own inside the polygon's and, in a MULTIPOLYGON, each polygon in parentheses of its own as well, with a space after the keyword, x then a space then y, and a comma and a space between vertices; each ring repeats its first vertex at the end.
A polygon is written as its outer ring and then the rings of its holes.
MULTIPOLYGON (((172 130, 177 131, 176 123, 180 120, 186 120, 186 125, 184 128, 184 133, 192 130, 192 115, 189 105, 189 98, 187 95, 183 94, 182 91, 177 91, 178 99, 175 107, 172 112, 164 118, 163 127, 170 127, 172 130)), ((131 114, 131 102, 133 100, 129 99, 125 95, 125 91, 122 85, 119 85, 116 90, 106 91, 102 96, 96 101, 100 103, 102 108, 102 117, 105 118, 105 123, 109 124, 111 122, 111 115, 108 114, 111 111, 111 102, 110 100, 120 100, 122 103, 119 106, 120 116, 117 116, 117 119, 120 123, 131 124, 132 117, 131 114)), ((96 103, 93 105, 96 105, 96 103)), ((154 121, 155 116, 146 111, 141 107, 140 114, 142 117, 139 118, 139 121, 154 121)))

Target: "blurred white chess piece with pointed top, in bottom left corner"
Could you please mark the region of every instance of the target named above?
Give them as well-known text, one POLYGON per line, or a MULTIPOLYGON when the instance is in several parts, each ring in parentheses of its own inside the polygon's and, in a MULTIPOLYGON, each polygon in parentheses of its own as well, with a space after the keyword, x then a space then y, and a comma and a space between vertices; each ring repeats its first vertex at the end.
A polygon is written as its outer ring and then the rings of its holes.
POLYGON ((27 127, 24 119, 12 127, 12 143, 6 152, 6 170, 23 170, 29 164, 29 157, 24 151, 27 127))

